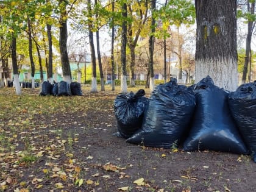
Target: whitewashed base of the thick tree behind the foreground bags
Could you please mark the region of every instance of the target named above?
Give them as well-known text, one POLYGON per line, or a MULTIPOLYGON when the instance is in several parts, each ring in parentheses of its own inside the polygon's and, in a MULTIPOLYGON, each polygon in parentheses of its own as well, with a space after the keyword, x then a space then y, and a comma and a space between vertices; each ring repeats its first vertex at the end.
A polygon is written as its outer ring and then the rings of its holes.
POLYGON ((238 87, 238 71, 236 62, 232 58, 196 60, 195 76, 196 83, 206 76, 210 76, 219 88, 235 91, 238 87))

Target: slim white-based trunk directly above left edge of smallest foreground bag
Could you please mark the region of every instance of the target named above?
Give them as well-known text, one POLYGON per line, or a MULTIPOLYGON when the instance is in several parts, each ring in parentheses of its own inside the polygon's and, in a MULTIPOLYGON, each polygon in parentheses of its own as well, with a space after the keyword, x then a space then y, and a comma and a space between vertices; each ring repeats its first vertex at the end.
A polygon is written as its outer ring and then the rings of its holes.
MULTIPOLYGON (((127 18, 127 4, 123 3, 122 15, 127 18)), ((121 39, 121 63, 122 63, 122 74, 121 74, 121 93, 127 93, 127 72, 126 72, 126 44, 127 44, 127 21, 124 20, 122 23, 122 39, 121 39)))

